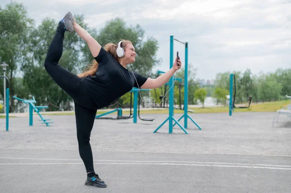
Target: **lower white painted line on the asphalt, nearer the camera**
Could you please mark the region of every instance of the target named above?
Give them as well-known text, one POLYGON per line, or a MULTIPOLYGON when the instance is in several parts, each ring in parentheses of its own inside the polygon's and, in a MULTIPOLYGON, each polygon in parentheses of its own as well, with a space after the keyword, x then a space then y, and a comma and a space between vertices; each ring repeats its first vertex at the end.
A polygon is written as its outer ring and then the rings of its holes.
MULTIPOLYGON (((0 163, 0 165, 74 165, 83 163, 0 163)), ((274 170, 291 170, 291 168, 282 167, 261 167, 261 166, 243 166, 243 165, 215 165, 215 164, 187 164, 187 163, 94 163, 105 165, 179 165, 179 166, 210 166, 210 167, 237 167, 237 168, 258 168, 274 170)))

